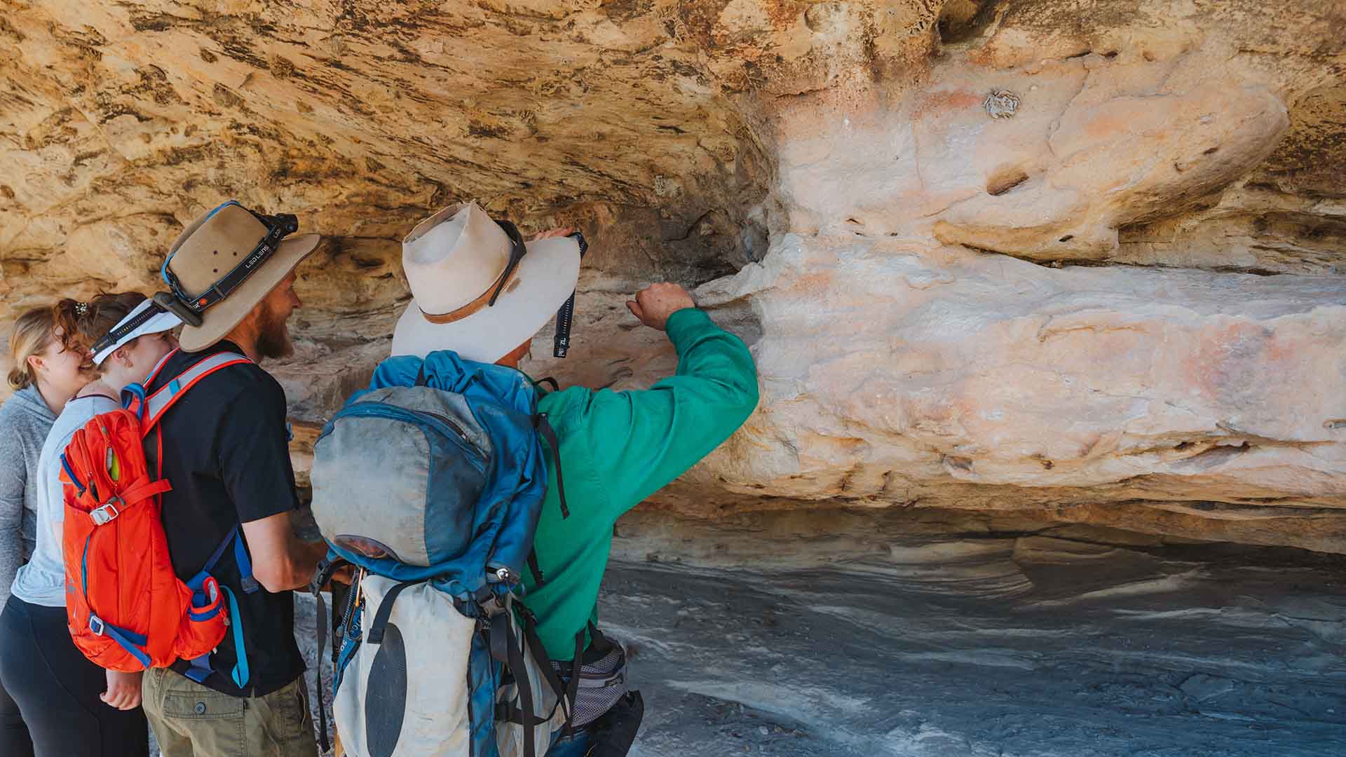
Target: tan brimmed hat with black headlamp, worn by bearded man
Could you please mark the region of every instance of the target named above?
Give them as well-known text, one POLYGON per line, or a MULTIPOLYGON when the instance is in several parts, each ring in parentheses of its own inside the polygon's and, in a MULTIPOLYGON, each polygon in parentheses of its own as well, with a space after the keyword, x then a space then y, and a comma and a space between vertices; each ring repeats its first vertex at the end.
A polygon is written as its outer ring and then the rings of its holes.
MULTIPOLYGON (((166 268, 195 296, 246 259, 265 236, 265 224, 237 202, 226 202, 182 230, 168 252, 166 268)), ((201 326, 183 327, 178 346, 199 352, 225 338, 320 241, 319 234, 283 238, 271 257, 229 296, 201 314, 201 326)))

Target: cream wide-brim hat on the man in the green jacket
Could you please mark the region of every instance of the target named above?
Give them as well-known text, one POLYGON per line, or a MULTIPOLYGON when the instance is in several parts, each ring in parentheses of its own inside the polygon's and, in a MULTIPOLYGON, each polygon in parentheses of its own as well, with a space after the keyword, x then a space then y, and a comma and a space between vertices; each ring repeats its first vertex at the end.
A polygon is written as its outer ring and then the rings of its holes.
POLYGON ((402 271, 413 299, 397 321, 392 354, 454 350, 495 362, 546 326, 575 291, 580 245, 572 237, 524 242, 507 229, 475 202, 412 229, 402 271))

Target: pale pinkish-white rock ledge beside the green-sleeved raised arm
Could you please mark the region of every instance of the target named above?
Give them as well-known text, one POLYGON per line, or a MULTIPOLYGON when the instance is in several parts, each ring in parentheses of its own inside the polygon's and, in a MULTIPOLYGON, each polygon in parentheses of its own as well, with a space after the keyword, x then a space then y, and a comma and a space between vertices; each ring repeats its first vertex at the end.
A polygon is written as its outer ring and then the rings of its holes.
MULTIPOLYGON (((763 400, 664 506, 1051 506, 1327 551, 1346 536, 1334 277, 1054 269, 852 240, 785 236, 701 288, 752 343, 763 400)), ((672 369, 647 333, 622 334, 618 304, 580 302, 586 330, 621 334, 575 374, 586 384, 672 369)))

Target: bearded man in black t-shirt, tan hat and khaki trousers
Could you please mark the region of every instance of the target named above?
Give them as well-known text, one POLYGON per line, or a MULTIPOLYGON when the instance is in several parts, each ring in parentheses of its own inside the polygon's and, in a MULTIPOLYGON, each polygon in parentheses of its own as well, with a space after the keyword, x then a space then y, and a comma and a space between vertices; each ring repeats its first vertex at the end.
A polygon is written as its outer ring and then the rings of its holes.
MULTIPOLYGON (((292 216, 225 203, 178 237, 164 265, 172 294, 156 296, 188 323, 182 349, 145 387, 149 395, 186 391, 159 423, 163 477, 172 485, 163 524, 174 571, 188 581, 230 535, 241 540, 210 570, 237 603, 225 640, 205 660, 144 676, 145 715, 164 757, 318 752, 291 590, 308 586, 326 544, 291 531, 299 502, 285 393, 256 365, 292 352, 285 321, 300 306, 293 269, 318 244, 316 234, 284 238, 296 229, 292 216), (183 376, 230 356, 246 360, 195 383, 183 376)), ((147 449, 157 454, 157 446, 151 435, 147 449)))

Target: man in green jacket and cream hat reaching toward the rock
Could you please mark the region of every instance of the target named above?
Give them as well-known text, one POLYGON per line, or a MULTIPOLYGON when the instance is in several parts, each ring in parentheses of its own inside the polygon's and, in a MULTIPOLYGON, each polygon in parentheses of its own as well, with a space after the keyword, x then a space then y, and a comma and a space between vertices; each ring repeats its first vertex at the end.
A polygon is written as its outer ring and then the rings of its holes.
MULTIPOLYGON (((450 349, 518 368, 533 335, 575 291, 581 252, 569 234, 556 229, 525 244, 513 226, 474 203, 423 221, 402 242, 416 299, 397 325, 393 354, 450 349)), ((553 744, 549 757, 586 754, 604 733, 622 730, 614 721, 626 709, 638 707, 627 695, 622 648, 598 632, 612 525, 728 439, 758 401, 747 346, 699 310, 686 290, 654 284, 626 306, 641 323, 668 334, 677 373, 645 391, 572 387, 538 401, 560 442, 561 470, 546 455, 548 481, 564 475, 569 517, 561 516, 557 488, 549 486, 533 539, 544 582, 525 572, 528 606, 563 678, 576 682, 579 661, 579 678, 598 682, 572 686, 573 731, 553 744)), ((625 726, 634 735, 634 725, 625 726)))

